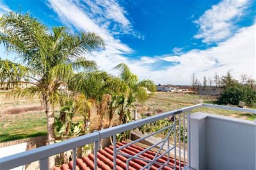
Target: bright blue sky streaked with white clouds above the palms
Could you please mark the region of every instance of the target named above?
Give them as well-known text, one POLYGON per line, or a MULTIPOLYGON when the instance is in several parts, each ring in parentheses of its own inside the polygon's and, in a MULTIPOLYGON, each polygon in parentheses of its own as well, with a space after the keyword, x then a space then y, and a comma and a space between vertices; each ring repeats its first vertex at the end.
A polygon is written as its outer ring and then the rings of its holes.
MULTIPOLYGON (((190 84, 228 70, 256 78, 255 1, 12 1, 1 0, 1 15, 30 12, 48 27, 93 31, 106 49, 88 59, 102 70, 124 62, 140 79, 156 84, 190 84)), ((6 56, 3 46, 1 58, 6 56)))

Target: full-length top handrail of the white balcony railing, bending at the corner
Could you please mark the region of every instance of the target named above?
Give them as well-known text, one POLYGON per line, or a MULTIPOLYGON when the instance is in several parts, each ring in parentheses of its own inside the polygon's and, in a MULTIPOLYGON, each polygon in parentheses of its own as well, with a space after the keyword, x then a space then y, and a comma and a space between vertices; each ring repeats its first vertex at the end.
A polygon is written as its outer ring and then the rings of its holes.
POLYGON ((216 109, 228 109, 233 111, 244 111, 256 114, 255 109, 244 109, 239 107, 229 107, 223 105, 212 105, 212 104, 196 104, 191 105, 189 107, 184 107, 182 109, 177 109, 170 112, 164 112, 161 114, 157 114, 155 116, 150 116, 148 118, 144 118, 141 120, 131 121, 130 123, 125 123, 123 125, 118 125, 116 127, 106 128, 104 130, 100 130, 97 132, 93 132, 91 134, 82 135, 73 139, 68 139, 67 141, 62 141, 60 143, 54 143, 47 146, 42 146, 40 148, 35 148, 30 151, 24 151, 22 153, 17 153, 15 155, 10 155, 8 157, 0 158, 0 169, 12 169, 13 167, 22 166, 24 164, 29 164, 31 162, 35 162, 37 160, 42 160, 44 158, 51 157, 52 155, 56 155, 63 151, 72 150, 73 148, 79 148, 85 144, 94 143, 100 141, 100 139, 104 139, 106 137, 110 137, 115 134, 119 134, 121 132, 125 132, 127 130, 131 130, 133 128, 141 127, 148 123, 152 123, 154 121, 162 120, 164 118, 168 118, 173 116, 176 113, 190 111, 192 109, 196 109, 199 107, 212 107, 216 109))

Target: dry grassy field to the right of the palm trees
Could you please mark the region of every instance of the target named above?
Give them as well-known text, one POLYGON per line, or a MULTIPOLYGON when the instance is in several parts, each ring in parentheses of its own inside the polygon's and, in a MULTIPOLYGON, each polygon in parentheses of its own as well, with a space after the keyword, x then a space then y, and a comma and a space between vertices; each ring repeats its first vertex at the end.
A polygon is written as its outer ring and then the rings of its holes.
MULTIPOLYGON (((139 113, 152 112, 161 113, 195 105, 200 103, 216 104, 216 97, 206 95, 194 95, 188 93, 166 93, 157 92, 150 97, 145 103, 136 102, 136 109, 139 113)), ((233 118, 241 118, 244 120, 254 120, 255 116, 246 112, 227 111, 223 109, 200 108, 193 112, 207 112, 211 114, 219 114, 223 116, 230 116, 233 118)))

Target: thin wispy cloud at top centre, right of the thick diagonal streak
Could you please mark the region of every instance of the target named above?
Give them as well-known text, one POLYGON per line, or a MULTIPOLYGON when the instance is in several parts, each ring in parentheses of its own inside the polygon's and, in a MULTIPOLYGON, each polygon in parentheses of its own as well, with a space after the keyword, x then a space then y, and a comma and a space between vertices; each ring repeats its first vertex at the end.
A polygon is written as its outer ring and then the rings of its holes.
POLYGON ((129 34, 143 39, 144 36, 133 29, 127 18, 129 13, 116 0, 83 0, 74 1, 100 27, 108 29, 112 35, 129 34))

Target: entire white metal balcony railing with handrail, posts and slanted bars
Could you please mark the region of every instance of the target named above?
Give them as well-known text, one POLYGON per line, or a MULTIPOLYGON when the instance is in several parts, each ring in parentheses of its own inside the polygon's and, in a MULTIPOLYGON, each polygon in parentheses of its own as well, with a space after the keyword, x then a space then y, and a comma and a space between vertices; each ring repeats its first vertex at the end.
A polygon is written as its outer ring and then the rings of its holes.
MULTIPOLYGON (((155 146, 159 146, 159 151, 157 151, 156 156, 152 160, 144 160, 144 161, 148 162, 148 164, 147 164, 147 166, 144 166, 143 169, 150 169, 150 167, 153 164, 159 164, 161 167, 163 167, 163 166, 172 167, 172 166, 168 165, 168 163, 170 161, 169 157, 170 157, 171 151, 174 152, 175 167, 176 166, 180 167, 180 160, 181 160, 182 162, 184 162, 184 165, 186 162, 186 166, 184 166, 184 169, 189 169, 190 164, 191 164, 190 163, 190 160, 191 160, 190 113, 191 113, 191 110, 197 109, 199 107, 211 107, 211 108, 215 108, 215 109, 227 109, 227 110, 232 110, 232 111, 241 111, 241 112, 248 112, 248 113, 256 114, 255 109, 243 109, 243 108, 239 108, 239 107, 228 107, 228 106, 223 106, 223 105, 211 105, 211 104, 192 105, 189 107, 184 107, 182 109, 178 109, 178 110, 174 110, 174 111, 170 111, 170 112, 164 112, 164 113, 158 114, 156 116, 151 116, 151 117, 144 118, 141 120, 132 121, 132 122, 126 123, 124 125, 118 125, 116 127, 111 127, 111 128, 106 128, 104 130, 95 131, 91 134, 82 135, 80 137, 76 137, 74 139, 69 139, 67 141, 63 141, 60 143, 55 143, 55 144, 51 144, 48 146, 36 148, 34 150, 17 153, 15 155, 11 155, 8 157, 3 157, 0 160, 0 169, 1 170, 12 169, 14 167, 19 167, 19 166, 23 166, 25 164, 30 164, 31 162, 35 162, 37 160, 40 161, 40 169, 47 169, 49 157, 51 157, 52 155, 57 155, 59 153, 63 153, 64 151, 68 151, 68 150, 73 150, 72 151, 73 167, 74 167, 74 169, 76 169, 76 148, 79 148, 81 146, 84 146, 84 145, 90 144, 90 143, 94 143, 94 169, 97 169, 97 154, 95 154, 95 153, 97 153, 97 149, 98 149, 97 146, 101 139, 104 139, 107 137, 113 137, 113 141, 115 141, 116 134, 125 132, 127 130, 132 130, 134 128, 138 128, 143 125, 147 125, 148 123, 159 121, 164 118, 169 118, 172 116, 174 119, 173 124, 168 127, 165 127, 157 132, 147 135, 146 137, 142 137, 142 138, 140 138, 136 141, 133 141, 131 143, 125 144, 124 146, 122 146, 120 148, 117 148, 116 143, 114 143, 113 144, 113 165, 114 165, 113 169, 116 169, 116 155, 123 155, 124 157, 127 157, 127 169, 128 169, 130 160, 132 160, 132 159, 138 159, 138 160, 142 159, 143 160, 143 158, 141 158, 140 155, 142 153, 145 153, 145 151, 150 150, 151 148, 154 148, 155 146), (177 115, 177 116, 175 116, 175 115, 177 115), (176 119, 177 119, 177 121, 175 121, 176 119), (183 134, 180 133, 180 130, 181 130, 180 126, 182 126, 182 125, 184 127, 186 127, 186 128, 182 128, 182 130, 184 130, 183 134), (178 130, 176 130, 177 128, 178 128, 178 130), (120 150, 126 148, 127 146, 131 146, 131 144, 138 143, 151 135, 162 132, 163 130, 168 130, 168 134, 162 141, 150 146, 150 148, 147 148, 144 151, 141 151, 137 155, 127 155, 125 153, 120 152, 120 150), (181 146, 181 140, 180 140, 181 137, 183 137, 183 139, 185 139, 185 134, 186 134, 185 130, 187 132, 188 142, 185 143, 185 140, 184 140, 183 147, 180 147, 181 146), (172 132, 174 133, 174 141, 173 141, 174 144, 173 144, 173 146, 170 146, 169 140, 170 140, 170 134, 172 132), (183 135, 183 136, 181 136, 181 135, 183 135), (177 141, 177 143, 179 143, 179 148, 177 147, 176 141, 177 141), (160 151, 163 149, 163 146, 165 143, 167 143, 168 148, 163 153, 160 153, 160 151), (183 155, 182 155, 182 153, 183 153, 183 155), (157 162, 157 160, 159 158, 163 157, 163 155, 168 155, 168 161, 165 164, 163 164, 161 162, 157 162), (178 163, 177 163, 176 158, 179 159, 178 163)), ((161 167, 159 167, 159 169, 161 169, 161 167)), ((172 167, 172 168, 175 169, 175 167, 172 167)))

